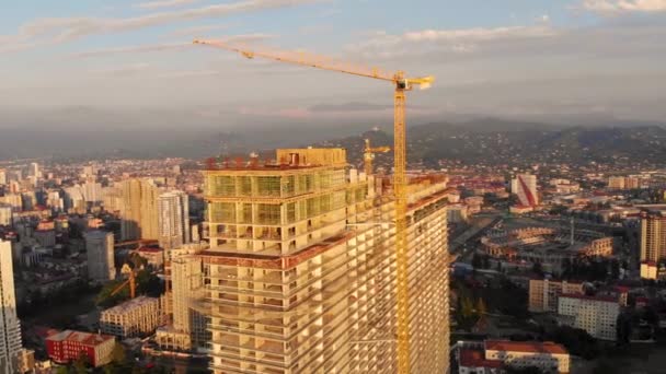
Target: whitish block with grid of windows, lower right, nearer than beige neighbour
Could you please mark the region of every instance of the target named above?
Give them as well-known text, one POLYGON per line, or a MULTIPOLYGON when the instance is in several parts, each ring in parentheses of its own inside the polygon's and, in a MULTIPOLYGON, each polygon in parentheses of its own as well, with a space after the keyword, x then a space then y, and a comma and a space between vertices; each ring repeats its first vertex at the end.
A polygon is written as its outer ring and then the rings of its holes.
POLYGON ((620 302, 613 296, 562 294, 559 297, 560 320, 581 328, 601 340, 616 340, 620 302))

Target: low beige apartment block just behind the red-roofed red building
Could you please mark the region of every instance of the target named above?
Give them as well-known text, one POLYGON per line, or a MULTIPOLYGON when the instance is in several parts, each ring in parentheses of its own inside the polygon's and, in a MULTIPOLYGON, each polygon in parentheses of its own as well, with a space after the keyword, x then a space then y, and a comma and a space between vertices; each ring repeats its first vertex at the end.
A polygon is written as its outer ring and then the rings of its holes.
POLYGON ((100 329, 120 339, 148 336, 161 323, 160 300, 138 296, 102 311, 100 329))

